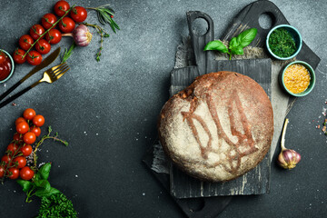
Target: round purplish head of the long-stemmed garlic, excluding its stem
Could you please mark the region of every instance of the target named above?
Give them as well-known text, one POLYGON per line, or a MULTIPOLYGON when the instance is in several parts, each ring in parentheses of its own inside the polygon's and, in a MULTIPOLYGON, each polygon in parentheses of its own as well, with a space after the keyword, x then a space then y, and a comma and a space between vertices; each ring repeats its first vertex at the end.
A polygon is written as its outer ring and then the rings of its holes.
POLYGON ((301 155, 292 149, 284 149, 278 155, 278 164, 284 169, 291 170, 301 161, 301 155))

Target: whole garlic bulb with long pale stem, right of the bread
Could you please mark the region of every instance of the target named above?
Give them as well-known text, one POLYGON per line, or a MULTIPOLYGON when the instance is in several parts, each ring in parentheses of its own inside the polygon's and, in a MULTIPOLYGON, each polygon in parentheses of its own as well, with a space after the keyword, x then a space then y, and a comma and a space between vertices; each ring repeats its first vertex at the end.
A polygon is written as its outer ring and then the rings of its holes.
POLYGON ((278 155, 277 162, 282 168, 291 170, 296 166, 297 163, 301 161, 301 155, 295 152, 292 149, 285 148, 285 133, 286 133, 286 127, 289 123, 289 120, 286 118, 285 124, 282 129, 282 141, 281 141, 281 147, 282 152, 278 155))

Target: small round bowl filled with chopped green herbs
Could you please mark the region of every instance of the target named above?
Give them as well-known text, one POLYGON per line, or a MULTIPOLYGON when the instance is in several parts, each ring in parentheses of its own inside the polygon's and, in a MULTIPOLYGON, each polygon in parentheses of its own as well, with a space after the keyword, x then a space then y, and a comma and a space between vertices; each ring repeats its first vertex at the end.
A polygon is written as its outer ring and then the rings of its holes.
POLYGON ((277 25, 266 38, 267 49, 278 60, 289 60, 299 54, 302 36, 292 25, 277 25))

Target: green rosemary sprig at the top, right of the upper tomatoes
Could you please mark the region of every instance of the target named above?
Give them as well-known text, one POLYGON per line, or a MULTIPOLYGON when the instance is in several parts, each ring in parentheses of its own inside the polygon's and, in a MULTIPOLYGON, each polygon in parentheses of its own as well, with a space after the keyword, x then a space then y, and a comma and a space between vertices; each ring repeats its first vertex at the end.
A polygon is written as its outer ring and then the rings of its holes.
POLYGON ((108 5, 101 5, 98 7, 86 7, 87 9, 96 11, 98 20, 102 25, 108 24, 116 33, 116 29, 120 30, 119 25, 114 22, 114 9, 108 5))

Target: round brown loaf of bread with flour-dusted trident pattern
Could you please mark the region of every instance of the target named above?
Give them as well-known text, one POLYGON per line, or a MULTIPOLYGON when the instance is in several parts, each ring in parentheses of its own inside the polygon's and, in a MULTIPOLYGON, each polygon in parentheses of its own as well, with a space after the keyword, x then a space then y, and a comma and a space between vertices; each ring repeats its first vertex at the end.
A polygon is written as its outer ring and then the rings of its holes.
POLYGON ((204 181, 229 181, 268 153, 272 104, 246 75, 204 74, 163 105, 158 132, 163 150, 185 173, 204 181))

